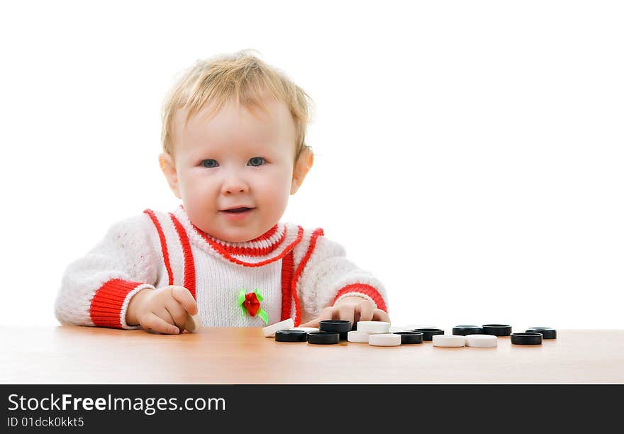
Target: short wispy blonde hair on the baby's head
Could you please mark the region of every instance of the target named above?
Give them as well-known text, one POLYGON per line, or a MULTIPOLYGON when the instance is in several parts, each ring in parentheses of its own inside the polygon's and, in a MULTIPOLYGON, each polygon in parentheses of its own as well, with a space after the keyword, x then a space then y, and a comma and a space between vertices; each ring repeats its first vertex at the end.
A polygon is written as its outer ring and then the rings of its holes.
MULTIPOLYGON (((255 50, 241 50, 230 55, 218 55, 208 60, 198 60, 184 70, 162 105, 162 149, 173 155, 172 123, 177 110, 188 109, 184 124, 199 112, 206 103, 212 104, 213 116, 231 98, 253 112, 254 107, 267 111, 262 91, 268 89, 273 96, 284 101, 291 113, 296 130, 295 162, 306 145, 306 127, 313 101, 303 89, 286 75, 252 55, 255 50)), ((259 53, 260 54, 260 53, 259 53)))

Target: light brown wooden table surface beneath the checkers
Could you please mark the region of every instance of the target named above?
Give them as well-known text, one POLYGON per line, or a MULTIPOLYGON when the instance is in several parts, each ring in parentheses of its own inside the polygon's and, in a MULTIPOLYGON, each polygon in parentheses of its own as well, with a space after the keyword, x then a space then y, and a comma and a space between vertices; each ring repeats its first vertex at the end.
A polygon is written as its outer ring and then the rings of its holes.
MULTIPOLYGON (((514 330, 516 331, 516 330, 514 330)), ((2 384, 623 383, 624 330, 557 330, 542 345, 278 343, 260 328, 160 335, 0 327, 2 384)))

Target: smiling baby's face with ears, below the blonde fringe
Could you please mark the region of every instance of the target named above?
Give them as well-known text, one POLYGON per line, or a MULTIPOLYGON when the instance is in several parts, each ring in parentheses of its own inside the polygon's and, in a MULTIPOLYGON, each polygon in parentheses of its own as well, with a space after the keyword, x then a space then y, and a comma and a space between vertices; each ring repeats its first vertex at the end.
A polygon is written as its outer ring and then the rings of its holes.
POLYGON ((264 104, 268 113, 254 114, 230 101, 210 119, 205 108, 186 126, 186 110, 179 110, 174 157, 161 155, 169 186, 191 221, 221 240, 252 240, 272 228, 312 164, 311 155, 302 155, 294 165, 296 131, 286 104, 264 104))

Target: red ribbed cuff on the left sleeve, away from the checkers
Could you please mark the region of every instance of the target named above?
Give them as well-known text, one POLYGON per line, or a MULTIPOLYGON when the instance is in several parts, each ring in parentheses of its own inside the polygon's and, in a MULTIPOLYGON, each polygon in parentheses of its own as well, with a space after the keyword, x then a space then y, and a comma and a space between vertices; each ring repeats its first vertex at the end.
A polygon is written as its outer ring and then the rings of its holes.
POLYGON ((128 282, 121 279, 112 279, 98 289, 91 301, 91 321, 98 327, 123 328, 121 325, 121 308, 128 293, 140 282, 128 282))

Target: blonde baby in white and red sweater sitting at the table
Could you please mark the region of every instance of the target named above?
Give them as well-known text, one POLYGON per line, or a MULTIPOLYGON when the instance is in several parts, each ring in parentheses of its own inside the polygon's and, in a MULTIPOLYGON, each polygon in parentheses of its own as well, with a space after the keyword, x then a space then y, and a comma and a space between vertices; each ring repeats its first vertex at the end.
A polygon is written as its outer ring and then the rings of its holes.
POLYGON ((182 205, 117 223, 69 265, 58 321, 160 333, 192 330, 194 318, 216 327, 389 321, 384 287, 341 245, 279 222, 313 164, 308 101, 249 52, 186 70, 165 99, 160 155, 182 205))

